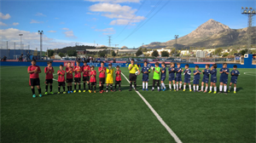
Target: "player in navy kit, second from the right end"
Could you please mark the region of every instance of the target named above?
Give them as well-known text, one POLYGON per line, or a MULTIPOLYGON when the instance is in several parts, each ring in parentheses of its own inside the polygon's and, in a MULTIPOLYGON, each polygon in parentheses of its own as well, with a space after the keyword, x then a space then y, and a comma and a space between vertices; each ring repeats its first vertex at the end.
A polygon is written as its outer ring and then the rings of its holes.
POLYGON ((227 68, 227 63, 223 64, 223 67, 219 71, 220 77, 219 77, 219 92, 218 94, 223 93, 222 88, 224 86, 224 94, 227 94, 227 83, 228 83, 228 77, 230 74, 230 69, 227 68))

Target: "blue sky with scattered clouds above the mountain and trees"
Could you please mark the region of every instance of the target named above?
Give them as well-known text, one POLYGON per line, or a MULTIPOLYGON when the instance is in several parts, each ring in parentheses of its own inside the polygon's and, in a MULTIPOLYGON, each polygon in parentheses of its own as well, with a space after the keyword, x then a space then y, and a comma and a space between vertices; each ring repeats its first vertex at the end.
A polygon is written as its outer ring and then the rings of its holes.
POLYGON ((182 37, 210 19, 230 28, 244 28, 247 17, 241 14, 241 6, 256 8, 256 0, 176 0, 166 3, 166 0, 1 0, 0 46, 6 48, 5 43, 9 41, 9 49, 14 49, 12 43, 20 43, 18 34, 23 33, 25 47, 30 44, 31 49, 36 49, 39 47, 37 31, 43 30, 44 50, 75 43, 108 45, 108 35, 119 47, 137 48, 143 43, 166 42, 174 35, 182 37), (157 3, 160 3, 158 7, 157 3), (163 5, 165 7, 161 9, 163 5), (152 9, 154 12, 147 17, 152 9), (148 20, 153 14, 154 17, 148 20))

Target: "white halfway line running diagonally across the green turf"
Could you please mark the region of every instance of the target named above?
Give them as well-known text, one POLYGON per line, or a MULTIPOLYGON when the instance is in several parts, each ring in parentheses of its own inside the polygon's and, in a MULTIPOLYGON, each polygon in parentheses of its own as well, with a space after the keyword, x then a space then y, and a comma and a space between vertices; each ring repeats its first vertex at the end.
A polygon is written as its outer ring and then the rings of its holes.
MULTIPOLYGON (((123 74, 123 72, 121 72, 122 75, 125 77, 125 75, 123 74)), ((127 80, 128 83, 130 83, 130 81, 127 79, 127 77, 125 77, 125 79, 127 80)), ((133 89, 134 86, 132 85, 133 89)), ((154 113, 154 116, 158 119, 158 121, 166 128, 166 130, 169 132, 169 134, 172 135, 173 139, 177 142, 177 143, 182 143, 181 140, 179 140, 179 138, 177 137, 177 135, 172 131, 172 129, 165 123, 165 121, 162 119, 162 117, 160 117, 160 115, 155 112, 154 108, 148 103, 148 100, 146 100, 142 94, 140 94, 138 91, 136 91, 137 94, 142 98, 142 100, 145 102, 145 104, 148 106, 148 108, 151 110, 151 112, 154 113)))

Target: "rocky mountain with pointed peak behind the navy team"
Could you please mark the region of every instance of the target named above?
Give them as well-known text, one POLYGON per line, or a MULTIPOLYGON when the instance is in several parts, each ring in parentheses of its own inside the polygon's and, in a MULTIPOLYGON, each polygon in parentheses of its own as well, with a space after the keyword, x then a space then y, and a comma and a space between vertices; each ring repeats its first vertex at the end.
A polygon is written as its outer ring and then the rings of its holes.
MULTIPOLYGON (((189 49, 189 47, 230 47, 235 45, 247 44, 247 28, 230 29, 229 26, 216 21, 207 20, 206 23, 197 27, 188 35, 177 38, 177 49, 189 49)), ((252 28, 252 44, 256 43, 256 27, 252 28)), ((147 49, 172 49, 176 47, 175 39, 166 43, 154 42, 148 45, 143 45, 147 49)))

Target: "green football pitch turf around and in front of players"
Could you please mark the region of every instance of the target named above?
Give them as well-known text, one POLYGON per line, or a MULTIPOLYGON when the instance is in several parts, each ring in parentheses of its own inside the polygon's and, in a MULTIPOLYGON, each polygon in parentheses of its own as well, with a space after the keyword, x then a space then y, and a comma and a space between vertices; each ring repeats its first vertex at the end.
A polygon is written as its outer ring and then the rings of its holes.
MULTIPOLYGON (((40 68, 44 94, 44 67, 40 68)), ((54 69, 56 73, 59 67, 54 69)), ((127 68, 120 70, 129 77, 127 68)), ((188 85, 185 92, 143 91, 142 75, 137 77, 137 89, 183 143, 255 142, 256 69, 237 70, 241 75, 236 94, 233 88, 229 94, 194 93, 188 85)), ((177 142, 141 96, 128 91, 123 76, 121 92, 100 94, 97 87, 96 94, 86 91, 32 98, 26 71, 26 66, 0 66, 0 142, 177 142)), ((152 77, 151 73, 148 89, 152 77)), ((168 78, 165 83, 169 87, 168 78)), ((53 91, 57 93, 57 89, 54 81, 53 91)))

